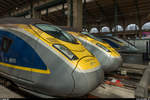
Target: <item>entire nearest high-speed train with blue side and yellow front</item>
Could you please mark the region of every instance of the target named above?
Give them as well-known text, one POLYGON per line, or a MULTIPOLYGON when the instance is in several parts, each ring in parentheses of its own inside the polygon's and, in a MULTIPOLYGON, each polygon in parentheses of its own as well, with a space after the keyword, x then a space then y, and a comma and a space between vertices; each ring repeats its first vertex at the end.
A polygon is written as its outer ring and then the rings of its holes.
POLYGON ((39 19, 0 19, 0 75, 44 97, 84 96, 104 80, 97 58, 61 28, 39 19))

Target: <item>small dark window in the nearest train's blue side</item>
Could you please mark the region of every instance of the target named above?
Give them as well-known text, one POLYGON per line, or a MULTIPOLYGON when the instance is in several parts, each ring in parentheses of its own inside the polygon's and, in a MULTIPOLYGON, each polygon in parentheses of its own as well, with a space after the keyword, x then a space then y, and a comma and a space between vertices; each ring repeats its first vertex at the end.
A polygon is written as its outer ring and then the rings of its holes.
POLYGON ((2 38, 1 50, 7 52, 12 44, 12 40, 6 37, 2 38))

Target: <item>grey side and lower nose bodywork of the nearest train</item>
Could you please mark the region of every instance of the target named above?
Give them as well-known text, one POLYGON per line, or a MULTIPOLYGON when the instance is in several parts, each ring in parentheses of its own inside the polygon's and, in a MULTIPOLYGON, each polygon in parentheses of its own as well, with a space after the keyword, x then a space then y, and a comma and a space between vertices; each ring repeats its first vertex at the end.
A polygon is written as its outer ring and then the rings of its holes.
POLYGON ((37 37, 28 34, 24 30, 7 29, 7 31, 27 42, 51 72, 50 74, 41 74, 0 67, 0 70, 2 70, 1 75, 12 80, 19 87, 54 97, 83 96, 95 89, 104 80, 104 72, 101 67, 93 72, 79 72, 76 69, 78 64, 76 66, 72 65, 61 54, 37 37))

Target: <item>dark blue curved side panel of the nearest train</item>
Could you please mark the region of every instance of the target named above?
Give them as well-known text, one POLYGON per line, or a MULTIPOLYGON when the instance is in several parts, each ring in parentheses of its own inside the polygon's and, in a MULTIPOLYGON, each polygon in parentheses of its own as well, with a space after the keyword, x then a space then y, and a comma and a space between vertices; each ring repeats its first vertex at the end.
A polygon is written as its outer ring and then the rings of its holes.
POLYGON ((12 44, 8 52, 4 53, 0 50, 1 62, 28 68, 47 70, 47 67, 42 59, 38 56, 35 50, 24 40, 22 40, 18 36, 15 36, 11 32, 0 30, 0 46, 2 43, 2 37, 8 37, 9 39, 11 39, 12 44), (15 58, 16 63, 10 63, 8 60, 10 58, 15 58))

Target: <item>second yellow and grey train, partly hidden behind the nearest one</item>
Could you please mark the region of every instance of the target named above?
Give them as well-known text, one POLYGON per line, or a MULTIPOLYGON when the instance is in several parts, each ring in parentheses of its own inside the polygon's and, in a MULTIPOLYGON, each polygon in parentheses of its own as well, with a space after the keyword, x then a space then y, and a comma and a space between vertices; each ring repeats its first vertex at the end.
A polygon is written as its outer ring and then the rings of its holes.
POLYGON ((73 28, 60 26, 70 34, 75 36, 80 42, 93 54, 103 65, 104 72, 116 71, 122 65, 122 57, 109 44, 102 40, 95 40, 94 38, 81 34, 73 28))

